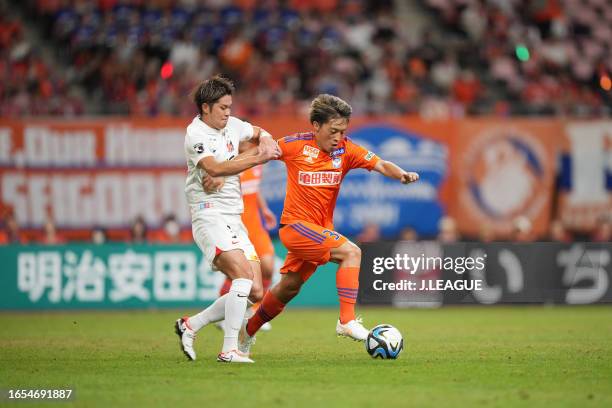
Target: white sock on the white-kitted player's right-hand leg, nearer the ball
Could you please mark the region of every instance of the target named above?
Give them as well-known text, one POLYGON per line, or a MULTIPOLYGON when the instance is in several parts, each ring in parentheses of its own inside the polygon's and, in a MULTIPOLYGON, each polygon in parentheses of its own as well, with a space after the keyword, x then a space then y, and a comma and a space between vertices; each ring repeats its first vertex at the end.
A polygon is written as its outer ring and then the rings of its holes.
POLYGON ((226 300, 222 353, 238 349, 238 332, 244 320, 244 312, 252 286, 253 281, 250 279, 234 279, 229 293, 223 296, 226 297, 226 300))

